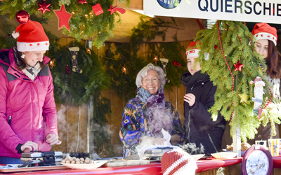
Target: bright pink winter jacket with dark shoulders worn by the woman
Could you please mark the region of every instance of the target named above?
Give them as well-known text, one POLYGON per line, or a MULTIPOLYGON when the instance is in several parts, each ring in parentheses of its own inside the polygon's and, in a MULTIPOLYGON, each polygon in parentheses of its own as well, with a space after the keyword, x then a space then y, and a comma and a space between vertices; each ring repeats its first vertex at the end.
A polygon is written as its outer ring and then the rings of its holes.
POLYGON ((13 48, 0 50, 0 157, 20 158, 17 146, 26 141, 50 151, 46 135, 58 136, 50 58, 43 60, 46 65, 31 80, 16 69, 13 48))

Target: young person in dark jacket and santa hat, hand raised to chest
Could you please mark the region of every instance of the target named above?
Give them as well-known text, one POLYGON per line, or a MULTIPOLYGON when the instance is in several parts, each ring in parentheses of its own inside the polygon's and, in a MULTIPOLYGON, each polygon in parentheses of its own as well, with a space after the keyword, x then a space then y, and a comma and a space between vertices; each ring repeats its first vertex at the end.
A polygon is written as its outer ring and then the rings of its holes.
POLYGON ((208 110, 214 105, 216 86, 213 85, 207 74, 201 73, 199 49, 192 49, 195 42, 191 42, 186 51, 188 72, 183 73, 181 82, 186 87, 184 96, 184 130, 185 144, 195 143, 204 146, 204 153, 209 155, 221 151, 221 140, 226 120, 218 113, 213 121, 208 110))

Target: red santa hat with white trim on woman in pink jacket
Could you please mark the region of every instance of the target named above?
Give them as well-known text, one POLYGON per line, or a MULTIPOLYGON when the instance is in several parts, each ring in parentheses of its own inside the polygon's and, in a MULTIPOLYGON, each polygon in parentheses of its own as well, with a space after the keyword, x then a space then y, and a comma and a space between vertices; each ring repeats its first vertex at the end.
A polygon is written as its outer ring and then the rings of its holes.
POLYGON ((12 35, 14 38, 18 38, 17 49, 20 52, 48 50, 50 45, 43 27, 36 21, 29 20, 25 24, 19 25, 12 35))

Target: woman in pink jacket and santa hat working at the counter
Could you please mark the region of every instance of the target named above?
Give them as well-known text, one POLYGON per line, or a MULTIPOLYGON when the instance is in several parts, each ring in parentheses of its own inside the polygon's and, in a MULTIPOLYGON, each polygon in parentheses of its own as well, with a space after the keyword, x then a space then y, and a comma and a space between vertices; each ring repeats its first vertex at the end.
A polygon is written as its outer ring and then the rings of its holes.
POLYGON ((48 37, 32 20, 19 25, 16 35, 17 47, 0 50, 0 164, 20 164, 21 153, 61 144, 50 59, 44 56, 48 37))

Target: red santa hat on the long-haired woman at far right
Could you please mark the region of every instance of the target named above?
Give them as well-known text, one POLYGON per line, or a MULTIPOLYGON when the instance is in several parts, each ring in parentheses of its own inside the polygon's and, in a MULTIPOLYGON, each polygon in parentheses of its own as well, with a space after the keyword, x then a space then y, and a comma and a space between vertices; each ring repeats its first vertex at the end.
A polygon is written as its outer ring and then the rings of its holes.
POLYGON ((251 31, 251 34, 254 35, 255 41, 258 41, 259 39, 268 39, 273 41, 275 45, 277 43, 277 30, 275 27, 271 27, 267 23, 256 24, 253 31, 251 31))

